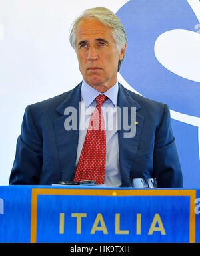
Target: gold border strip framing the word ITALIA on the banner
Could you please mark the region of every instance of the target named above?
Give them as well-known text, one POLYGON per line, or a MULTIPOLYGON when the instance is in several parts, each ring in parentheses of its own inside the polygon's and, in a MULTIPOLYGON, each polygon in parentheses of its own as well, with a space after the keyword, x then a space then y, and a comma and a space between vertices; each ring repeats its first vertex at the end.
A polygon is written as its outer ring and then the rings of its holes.
POLYGON ((67 189, 67 188, 32 188, 31 198, 31 243, 37 242, 37 196, 38 195, 89 195, 89 196, 189 196, 189 242, 195 243, 195 199, 196 190, 191 189, 67 189))

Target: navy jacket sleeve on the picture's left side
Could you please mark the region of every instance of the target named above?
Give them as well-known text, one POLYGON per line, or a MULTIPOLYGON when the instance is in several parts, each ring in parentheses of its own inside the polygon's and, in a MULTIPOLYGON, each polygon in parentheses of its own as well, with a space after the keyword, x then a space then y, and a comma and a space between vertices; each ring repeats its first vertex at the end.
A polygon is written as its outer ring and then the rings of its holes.
POLYGON ((9 184, 39 184, 42 168, 42 138, 27 106, 17 139, 16 155, 9 184))

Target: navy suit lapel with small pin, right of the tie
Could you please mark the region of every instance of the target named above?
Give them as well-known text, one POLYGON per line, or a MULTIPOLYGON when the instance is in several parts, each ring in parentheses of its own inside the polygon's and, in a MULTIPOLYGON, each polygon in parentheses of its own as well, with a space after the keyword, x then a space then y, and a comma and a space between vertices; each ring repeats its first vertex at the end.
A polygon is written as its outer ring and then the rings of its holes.
MULTIPOLYGON (((123 107, 135 107, 136 108, 136 134, 132 138, 125 138, 126 130, 123 128, 123 114, 121 118, 121 130, 118 131, 118 140, 119 140, 119 166, 121 171, 121 182, 122 186, 130 185, 130 170, 135 154, 137 152, 137 147, 139 144, 139 139, 141 136, 141 131, 143 128, 144 117, 138 114, 138 110, 141 106, 133 100, 129 91, 127 91, 121 84, 119 84, 119 93, 117 105, 121 108, 121 113, 123 113, 123 107)), ((130 116, 129 116, 130 124, 130 116)))

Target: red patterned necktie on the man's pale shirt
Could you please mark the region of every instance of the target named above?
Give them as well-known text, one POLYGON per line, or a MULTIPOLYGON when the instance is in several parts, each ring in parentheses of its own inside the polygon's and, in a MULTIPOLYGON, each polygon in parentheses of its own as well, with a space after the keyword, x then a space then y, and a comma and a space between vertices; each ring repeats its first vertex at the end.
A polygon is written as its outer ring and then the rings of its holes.
POLYGON ((97 106, 89 120, 85 142, 81 151, 79 164, 73 181, 95 180, 97 184, 104 184, 106 138, 105 123, 101 105, 107 96, 97 96, 97 106))

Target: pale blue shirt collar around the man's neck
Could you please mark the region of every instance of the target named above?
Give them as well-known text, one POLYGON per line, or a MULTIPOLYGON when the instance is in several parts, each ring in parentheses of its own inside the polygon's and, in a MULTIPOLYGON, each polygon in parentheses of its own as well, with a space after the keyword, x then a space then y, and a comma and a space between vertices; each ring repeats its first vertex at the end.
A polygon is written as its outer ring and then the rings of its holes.
MULTIPOLYGON (((109 100, 111 100, 111 102, 113 102, 115 107, 117 106, 118 88, 119 88, 119 85, 117 81, 111 88, 109 88, 109 90, 103 93, 105 96, 109 98, 109 100)), ((89 107, 89 105, 93 102, 93 100, 95 100, 95 98, 99 94, 101 94, 101 92, 97 91, 92 86, 89 86, 89 84, 87 84, 85 80, 83 80, 82 86, 81 86, 81 97, 85 102, 86 108, 89 107)))

